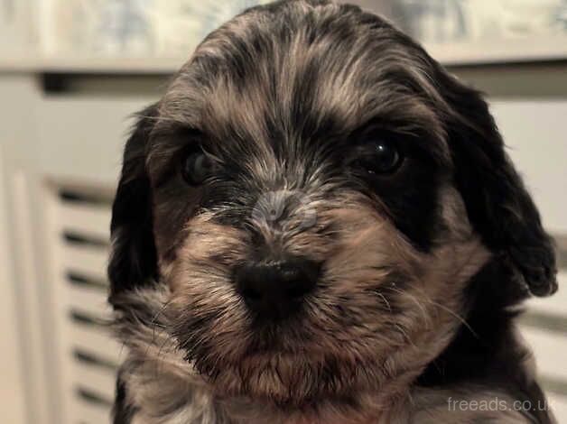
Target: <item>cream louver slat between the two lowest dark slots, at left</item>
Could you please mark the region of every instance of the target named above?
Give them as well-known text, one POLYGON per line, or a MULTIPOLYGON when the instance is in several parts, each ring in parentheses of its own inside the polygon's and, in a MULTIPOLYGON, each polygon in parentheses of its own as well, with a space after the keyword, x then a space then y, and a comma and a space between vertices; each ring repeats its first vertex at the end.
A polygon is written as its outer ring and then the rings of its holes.
POLYGON ((73 363, 73 387, 81 387, 102 399, 114 399, 116 372, 100 364, 73 363))

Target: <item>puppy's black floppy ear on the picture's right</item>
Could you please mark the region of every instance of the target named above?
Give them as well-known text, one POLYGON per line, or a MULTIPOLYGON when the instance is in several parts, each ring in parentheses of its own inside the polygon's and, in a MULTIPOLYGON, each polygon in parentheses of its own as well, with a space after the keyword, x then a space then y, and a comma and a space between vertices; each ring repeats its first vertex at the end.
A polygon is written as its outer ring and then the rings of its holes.
POLYGON ((447 119, 455 182, 472 226, 519 283, 515 288, 519 298, 526 287, 535 296, 553 294, 557 290, 553 241, 505 152, 487 103, 478 91, 442 69, 439 72, 442 94, 452 109, 447 119))

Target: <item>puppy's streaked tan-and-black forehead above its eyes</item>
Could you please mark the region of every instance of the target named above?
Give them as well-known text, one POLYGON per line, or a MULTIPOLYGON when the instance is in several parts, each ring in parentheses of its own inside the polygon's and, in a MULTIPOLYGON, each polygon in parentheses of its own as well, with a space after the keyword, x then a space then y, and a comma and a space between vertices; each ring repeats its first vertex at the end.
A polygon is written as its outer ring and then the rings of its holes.
POLYGON ((356 7, 289 2, 237 16, 200 44, 161 103, 164 122, 261 146, 372 120, 442 142, 442 97, 413 41, 356 7), (276 137, 277 138, 277 137, 276 137))

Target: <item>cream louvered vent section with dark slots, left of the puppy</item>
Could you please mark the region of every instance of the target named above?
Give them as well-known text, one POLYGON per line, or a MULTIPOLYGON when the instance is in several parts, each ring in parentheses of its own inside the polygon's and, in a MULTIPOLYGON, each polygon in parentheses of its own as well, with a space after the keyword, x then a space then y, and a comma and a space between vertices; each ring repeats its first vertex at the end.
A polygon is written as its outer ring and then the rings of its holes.
POLYGON ((53 189, 51 256, 60 307, 64 424, 104 424, 115 396, 122 346, 106 326, 108 189, 53 189), (94 195, 94 196, 93 196, 94 195))

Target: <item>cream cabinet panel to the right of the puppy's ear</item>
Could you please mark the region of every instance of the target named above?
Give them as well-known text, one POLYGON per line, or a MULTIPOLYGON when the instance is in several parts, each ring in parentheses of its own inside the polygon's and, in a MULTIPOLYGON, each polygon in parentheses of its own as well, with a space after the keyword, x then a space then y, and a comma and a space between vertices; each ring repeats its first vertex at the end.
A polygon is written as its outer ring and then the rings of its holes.
MULTIPOLYGON (((544 226, 553 233, 560 257, 559 291, 551 298, 527 302, 529 327, 524 327, 527 342, 534 350, 542 382, 549 396, 558 401, 555 408, 559 423, 567 423, 567 143, 565 143, 564 99, 493 99, 492 112, 510 146, 509 154, 525 184, 534 196, 544 226), (549 328, 548 328, 549 327, 549 328), (553 330, 551 329, 553 327, 553 330), (547 381, 547 382, 546 382, 547 381)), ((553 405, 552 405, 553 407, 553 405)))

